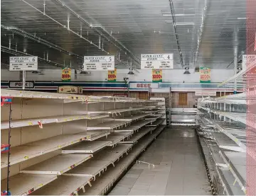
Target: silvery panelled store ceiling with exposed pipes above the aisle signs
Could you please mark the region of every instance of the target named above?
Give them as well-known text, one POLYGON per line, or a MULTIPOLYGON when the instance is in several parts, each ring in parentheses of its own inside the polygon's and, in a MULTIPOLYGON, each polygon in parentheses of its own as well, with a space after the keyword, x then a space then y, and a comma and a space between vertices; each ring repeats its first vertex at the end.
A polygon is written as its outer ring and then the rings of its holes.
POLYGON ((175 69, 233 69, 245 30, 245 0, 1 0, 1 63, 31 54, 40 69, 79 69, 112 54, 117 69, 138 69, 140 54, 174 53, 175 69))

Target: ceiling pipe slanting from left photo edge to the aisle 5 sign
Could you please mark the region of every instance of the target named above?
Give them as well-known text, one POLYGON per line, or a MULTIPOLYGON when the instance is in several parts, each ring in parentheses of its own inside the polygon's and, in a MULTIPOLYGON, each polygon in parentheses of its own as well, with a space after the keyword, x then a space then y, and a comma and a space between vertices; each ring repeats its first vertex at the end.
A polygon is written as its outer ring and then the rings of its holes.
POLYGON ((60 47, 58 45, 55 45, 51 42, 48 42, 47 40, 43 40, 42 38, 40 37, 37 37, 36 35, 32 35, 31 33, 27 33, 26 31, 24 30, 21 30, 19 28, 16 28, 16 27, 7 27, 5 25, 1 25, 1 28, 4 28, 5 30, 10 30, 11 32, 13 33, 16 33, 17 35, 21 35, 21 36, 25 36, 26 38, 30 39, 30 40, 34 40, 36 42, 40 42, 41 44, 43 45, 46 45, 50 48, 53 48, 55 50, 58 50, 60 52, 63 52, 65 54, 68 54, 68 55, 73 55, 75 57, 78 57, 79 59, 83 59, 83 57, 81 57, 80 55, 78 54, 75 54, 73 52, 70 52, 68 50, 65 50, 63 47, 60 47))

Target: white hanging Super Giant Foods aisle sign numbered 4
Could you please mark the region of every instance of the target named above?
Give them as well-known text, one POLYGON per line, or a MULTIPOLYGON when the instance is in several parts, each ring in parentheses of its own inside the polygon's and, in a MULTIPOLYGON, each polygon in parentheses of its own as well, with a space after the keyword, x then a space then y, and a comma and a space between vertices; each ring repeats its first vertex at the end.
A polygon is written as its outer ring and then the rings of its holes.
POLYGON ((174 54, 142 54, 141 69, 174 69, 174 54))

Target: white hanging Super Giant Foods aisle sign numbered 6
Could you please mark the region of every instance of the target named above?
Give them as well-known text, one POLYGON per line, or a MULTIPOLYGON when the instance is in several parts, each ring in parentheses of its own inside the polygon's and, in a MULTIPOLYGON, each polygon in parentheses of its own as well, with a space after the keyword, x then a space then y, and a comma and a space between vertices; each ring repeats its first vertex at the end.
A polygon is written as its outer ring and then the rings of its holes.
POLYGON ((38 70, 38 57, 10 57, 10 71, 38 70))

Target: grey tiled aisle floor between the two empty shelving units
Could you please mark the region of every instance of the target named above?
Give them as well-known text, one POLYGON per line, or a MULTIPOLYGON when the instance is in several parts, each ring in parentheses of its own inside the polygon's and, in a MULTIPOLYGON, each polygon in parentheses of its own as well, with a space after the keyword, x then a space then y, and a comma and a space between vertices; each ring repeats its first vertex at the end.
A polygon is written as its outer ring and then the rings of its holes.
POLYGON ((211 195, 196 133, 165 129, 109 195, 211 195))

